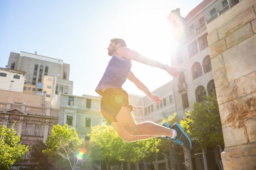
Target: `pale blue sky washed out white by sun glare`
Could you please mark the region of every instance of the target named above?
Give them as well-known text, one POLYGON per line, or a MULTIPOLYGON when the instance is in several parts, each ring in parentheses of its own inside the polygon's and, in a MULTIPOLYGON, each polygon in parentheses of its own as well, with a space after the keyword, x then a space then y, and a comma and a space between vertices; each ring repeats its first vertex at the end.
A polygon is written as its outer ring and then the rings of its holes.
MULTIPOLYGON (((110 60, 108 45, 122 38, 145 57, 171 65, 175 46, 167 17, 182 17, 202 0, 1 0, 0 67, 11 52, 35 53, 70 64, 73 95, 94 91, 110 60)), ((132 62, 131 71, 150 91, 172 80, 162 69, 132 62)), ((50 73, 50 68, 49 68, 50 73)), ((130 94, 145 95, 129 80, 130 94)))

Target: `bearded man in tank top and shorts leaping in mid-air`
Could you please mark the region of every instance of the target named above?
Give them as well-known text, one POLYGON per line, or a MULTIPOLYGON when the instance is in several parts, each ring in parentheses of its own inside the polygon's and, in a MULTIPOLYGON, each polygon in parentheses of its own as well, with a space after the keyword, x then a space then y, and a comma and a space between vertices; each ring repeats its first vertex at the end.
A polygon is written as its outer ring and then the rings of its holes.
POLYGON ((103 117, 107 119, 118 135, 126 142, 152 137, 166 137, 184 146, 186 150, 191 150, 192 146, 189 137, 177 123, 171 127, 167 123, 161 126, 151 121, 136 123, 132 115, 132 106, 128 103, 128 94, 122 89, 126 79, 129 79, 153 102, 160 104, 162 97, 153 95, 130 71, 131 60, 161 68, 174 77, 180 75, 179 71, 175 67, 146 58, 136 51, 128 49, 125 41, 119 38, 110 40, 108 55, 112 58, 95 91, 102 95, 101 113, 103 117))

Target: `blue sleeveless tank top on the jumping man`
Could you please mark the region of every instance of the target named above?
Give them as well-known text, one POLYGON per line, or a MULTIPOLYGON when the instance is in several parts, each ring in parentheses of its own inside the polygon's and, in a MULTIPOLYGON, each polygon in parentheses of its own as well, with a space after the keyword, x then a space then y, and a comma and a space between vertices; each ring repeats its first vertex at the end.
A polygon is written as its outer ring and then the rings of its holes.
POLYGON ((122 88, 132 66, 131 60, 118 57, 116 54, 108 62, 105 73, 103 74, 95 91, 102 95, 101 90, 107 88, 122 88))

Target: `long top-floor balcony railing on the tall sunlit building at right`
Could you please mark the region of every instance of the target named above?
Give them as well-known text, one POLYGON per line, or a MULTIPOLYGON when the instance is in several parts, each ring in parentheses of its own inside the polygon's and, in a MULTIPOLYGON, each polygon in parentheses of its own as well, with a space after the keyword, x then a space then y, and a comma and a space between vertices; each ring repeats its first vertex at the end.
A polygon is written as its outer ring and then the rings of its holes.
POLYGON ((191 37, 193 37, 193 35, 195 35, 196 33, 198 33, 199 31, 201 31, 202 29, 204 29, 207 24, 209 24, 210 22, 212 22, 213 20, 215 20, 216 18, 218 18, 222 13, 224 13, 225 11, 227 11, 229 9, 229 5, 227 5, 226 7, 222 8, 220 11, 218 11, 216 14, 214 14, 211 18, 209 18, 208 20, 206 20, 204 23, 202 23, 201 25, 199 25, 198 27, 196 27, 195 29, 193 29, 193 31, 191 31, 190 33, 188 33, 186 35, 186 39, 189 39, 191 37))

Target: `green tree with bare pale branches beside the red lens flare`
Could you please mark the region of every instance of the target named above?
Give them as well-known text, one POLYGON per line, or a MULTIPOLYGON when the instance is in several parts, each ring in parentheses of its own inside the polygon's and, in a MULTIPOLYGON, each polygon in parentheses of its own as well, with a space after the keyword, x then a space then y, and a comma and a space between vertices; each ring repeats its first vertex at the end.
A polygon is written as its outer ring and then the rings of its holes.
POLYGON ((84 139, 79 139, 74 128, 69 129, 67 124, 64 127, 58 124, 53 126, 52 136, 48 136, 45 142, 47 149, 43 150, 43 153, 49 157, 48 160, 56 168, 61 169, 63 161, 66 160, 71 169, 74 170, 78 163, 85 161, 86 150, 82 149, 83 144, 84 139), (77 157, 80 152, 82 157, 77 157), (62 158, 62 163, 60 157, 62 158))

